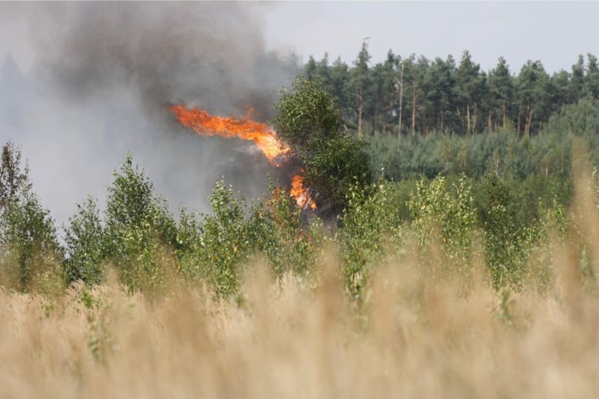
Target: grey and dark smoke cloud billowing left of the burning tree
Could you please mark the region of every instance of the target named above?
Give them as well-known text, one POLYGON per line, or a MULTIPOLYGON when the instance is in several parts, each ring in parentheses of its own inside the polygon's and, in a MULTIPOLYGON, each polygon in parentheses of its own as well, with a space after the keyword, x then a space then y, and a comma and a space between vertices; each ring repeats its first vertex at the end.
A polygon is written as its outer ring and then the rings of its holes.
POLYGON ((11 55, 4 62, 0 106, 11 112, 0 113, 0 135, 22 144, 34 190, 59 223, 88 194, 103 203, 127 151, 175 207, 207 211, 206 197, 221 176, 247 197, 264 192, 266 176, 280 172, 252 143, 197 136, 178 126, 166 106, 243 115, 249 104, 263 120, 272 117, 297 59, 266 51, 260 18, 266 6, 0 4, 0 23, 27 27, 34 60, 27 73, 11 55))

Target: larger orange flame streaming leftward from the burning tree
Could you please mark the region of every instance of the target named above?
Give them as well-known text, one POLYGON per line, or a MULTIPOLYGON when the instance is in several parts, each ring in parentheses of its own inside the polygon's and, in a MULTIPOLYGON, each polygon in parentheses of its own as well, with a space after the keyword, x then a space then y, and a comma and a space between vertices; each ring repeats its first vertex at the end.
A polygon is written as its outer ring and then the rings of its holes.
POLYGON ((253 140, 275 166, 279 166, 276 157, 285 155, 290 150, 287 145, 278 140, 276 132, 269 125, 250 119, 250 112, 247 112, 243 118, 236 118, 210 115, 201 108, 189 109, 184 105, 170 105, 169 110, 176 115, 179 124, 203 136, 216 135, 253 140))

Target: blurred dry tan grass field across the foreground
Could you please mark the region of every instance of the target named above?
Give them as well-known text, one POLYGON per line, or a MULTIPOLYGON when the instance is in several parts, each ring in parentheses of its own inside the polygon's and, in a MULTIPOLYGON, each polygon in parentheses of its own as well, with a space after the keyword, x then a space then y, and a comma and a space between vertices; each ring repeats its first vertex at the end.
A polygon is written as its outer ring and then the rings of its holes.
POLYGON ((554 259, 544 296, 403 259, 379 268, 360 312, 334 259, 314 289, 257 268, 242 305, 181 287, 160 299, 116 284, 51 302, 0 292, 0 396, 596 397, 599 298, 566 253, 554 259))

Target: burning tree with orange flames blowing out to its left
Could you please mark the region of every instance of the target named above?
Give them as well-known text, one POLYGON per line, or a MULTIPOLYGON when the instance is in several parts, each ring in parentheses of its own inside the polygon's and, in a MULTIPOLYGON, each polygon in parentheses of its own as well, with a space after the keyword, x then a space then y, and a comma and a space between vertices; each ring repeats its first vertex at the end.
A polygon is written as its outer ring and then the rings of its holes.
POLYGON ((276 103, 274 129, 256 122, 250 111, 242 118, 210 115, 200 108, 171 105, 179 124, 203 136, 252 140, 274 166, 288 169, 290 195, 302 209, 334 217, 347 206, 349 187, 371 183, 372 174, 361 142, 343 129, 341 113, 328 93, 297 77, 292 91, 276 103))

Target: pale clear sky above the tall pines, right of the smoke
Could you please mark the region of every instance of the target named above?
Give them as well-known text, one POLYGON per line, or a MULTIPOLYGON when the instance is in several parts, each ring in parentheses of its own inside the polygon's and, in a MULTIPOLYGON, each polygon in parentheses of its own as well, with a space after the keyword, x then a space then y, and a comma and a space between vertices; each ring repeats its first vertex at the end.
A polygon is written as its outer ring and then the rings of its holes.
POLYGON ((350 64, 366 37, 373 63, 389 49, 458 61, 468 50, 485 71, 503 56, 513 72, 541 60, 553 73, 599 56, 599 1, 290 1, 265 16, 268 45, 304 62, 328 52, 350 64))

